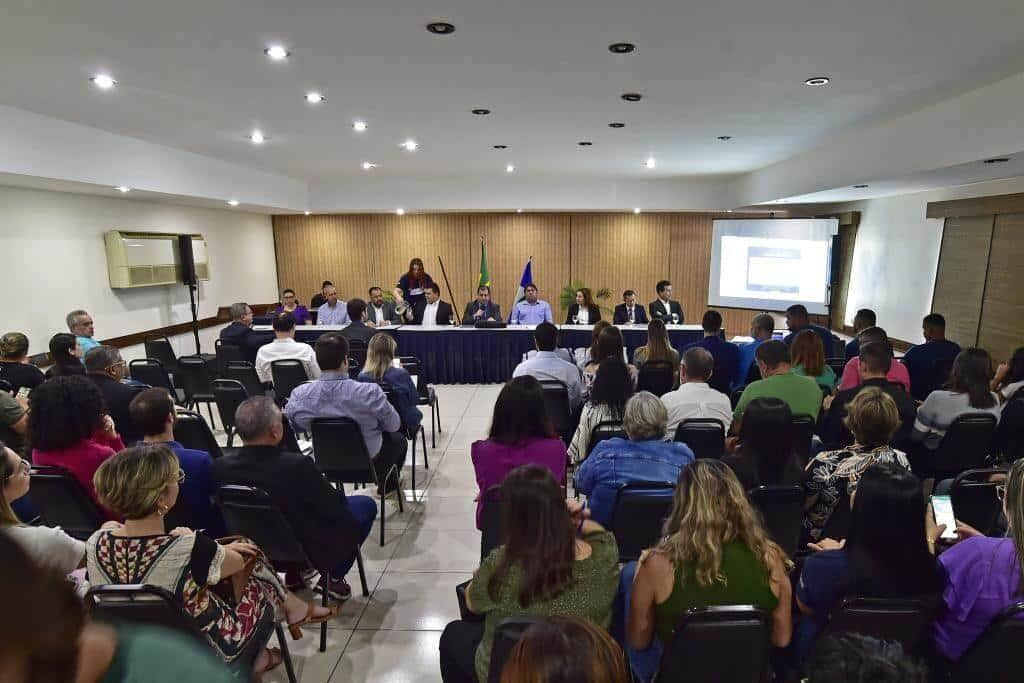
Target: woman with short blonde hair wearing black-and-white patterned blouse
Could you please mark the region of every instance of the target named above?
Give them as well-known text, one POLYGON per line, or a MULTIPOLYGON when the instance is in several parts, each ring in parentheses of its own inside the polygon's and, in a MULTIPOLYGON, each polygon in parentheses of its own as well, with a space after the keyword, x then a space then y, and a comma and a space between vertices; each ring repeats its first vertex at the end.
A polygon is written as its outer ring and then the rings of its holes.
POLYGON ((895 463, 910 469, 903 452, 890 445, 899 429, 899 412, 889 394, 878 387, 868 387, 854 396, 846 410, 844 424, 853 434, 853 445, 819 453, 807 464, 804 530, 812 541, 821 537, 836 504, 844 497, 853 498, 857 482, 868 467, 895 463))

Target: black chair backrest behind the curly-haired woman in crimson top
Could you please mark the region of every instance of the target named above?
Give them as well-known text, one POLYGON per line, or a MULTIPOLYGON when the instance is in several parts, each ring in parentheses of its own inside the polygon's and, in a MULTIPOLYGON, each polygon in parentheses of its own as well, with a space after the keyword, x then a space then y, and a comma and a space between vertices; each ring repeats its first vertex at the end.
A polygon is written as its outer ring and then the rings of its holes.
POLYGON ((88 539, 103 516, 78 479, 62 467, 34 466, 32 502, 47 526, 60 526, 76 539, 88 539))

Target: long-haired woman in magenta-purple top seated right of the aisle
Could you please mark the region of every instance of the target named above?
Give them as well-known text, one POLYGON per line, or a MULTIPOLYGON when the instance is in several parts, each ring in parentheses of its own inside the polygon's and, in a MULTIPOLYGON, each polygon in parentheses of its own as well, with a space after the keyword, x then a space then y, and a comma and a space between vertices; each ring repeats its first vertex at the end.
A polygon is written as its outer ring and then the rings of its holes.
POLYGON ((565 444, 555 435, 544 409, 544 392, 535 377, 508 382, 498 394, 490 433, 474 441, 470 455, 480 493, 476 498, 476 527, 480 528, 483 498, 520 465, 541 465, 565 486, 565 444))

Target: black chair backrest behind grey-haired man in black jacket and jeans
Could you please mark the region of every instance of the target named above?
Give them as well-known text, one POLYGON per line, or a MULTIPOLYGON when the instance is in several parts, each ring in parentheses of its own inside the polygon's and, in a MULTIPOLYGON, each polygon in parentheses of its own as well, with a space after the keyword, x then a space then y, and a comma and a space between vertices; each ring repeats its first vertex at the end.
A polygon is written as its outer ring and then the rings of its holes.
POLYGON ((221 486, 216 502, 227 530, 252 539, 272 564, 309 564, 294 529, 265 490, 255 486, 221 486))

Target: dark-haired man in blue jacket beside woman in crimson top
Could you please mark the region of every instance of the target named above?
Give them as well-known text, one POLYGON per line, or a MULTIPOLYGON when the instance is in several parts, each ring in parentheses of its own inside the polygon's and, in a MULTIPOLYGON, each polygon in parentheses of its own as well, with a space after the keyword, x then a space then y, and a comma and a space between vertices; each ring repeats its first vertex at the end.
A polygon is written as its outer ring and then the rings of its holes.
POLYGON ((177 456, 185 473, 179 497, 196 528, 220 530, 219 515, 213 508, 210 454, 186 449, 174 440, 174 423, 178 418, 171 394, 165 389, 146 389, 132 399, 128 412, 143 442, 162 443, 177 456))

